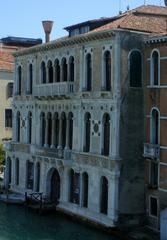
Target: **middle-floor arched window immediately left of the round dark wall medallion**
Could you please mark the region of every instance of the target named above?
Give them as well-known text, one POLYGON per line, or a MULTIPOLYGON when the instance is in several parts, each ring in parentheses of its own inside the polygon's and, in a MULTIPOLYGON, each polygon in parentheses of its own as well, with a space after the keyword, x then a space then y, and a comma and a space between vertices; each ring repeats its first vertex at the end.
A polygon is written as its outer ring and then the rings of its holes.
POLYGON ((85 113, 85 118, 84 118, 84 152, 89 152, 90 151, 90 134, 91 134, 91 115, 90 113, 85 113))

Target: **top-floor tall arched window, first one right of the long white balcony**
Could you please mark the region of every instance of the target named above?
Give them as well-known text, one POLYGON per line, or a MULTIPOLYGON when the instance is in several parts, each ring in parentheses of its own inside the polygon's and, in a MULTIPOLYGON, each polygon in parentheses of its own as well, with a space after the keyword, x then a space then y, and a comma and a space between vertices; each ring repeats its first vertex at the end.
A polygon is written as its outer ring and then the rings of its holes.
POLYGON ((86 55, 86 91, 92 90, 92 57, 88 53, 86 55))

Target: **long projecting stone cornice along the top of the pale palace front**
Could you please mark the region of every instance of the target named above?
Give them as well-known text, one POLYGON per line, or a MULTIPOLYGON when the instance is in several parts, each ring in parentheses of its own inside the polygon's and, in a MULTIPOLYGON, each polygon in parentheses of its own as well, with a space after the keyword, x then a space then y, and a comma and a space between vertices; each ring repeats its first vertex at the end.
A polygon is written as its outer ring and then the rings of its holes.
POLYGON ((75 37, 61 38, 60 40, 51 41, 49 43, 37 45, 28 49, 20 50, 13 54, 14 57, 19 57, 37 52, 45 52, 52 49, 73 46, 75 44, 82 44, 90 41, 103 40, 115 36, 115 32, 111 30, 86 33, 75 37))

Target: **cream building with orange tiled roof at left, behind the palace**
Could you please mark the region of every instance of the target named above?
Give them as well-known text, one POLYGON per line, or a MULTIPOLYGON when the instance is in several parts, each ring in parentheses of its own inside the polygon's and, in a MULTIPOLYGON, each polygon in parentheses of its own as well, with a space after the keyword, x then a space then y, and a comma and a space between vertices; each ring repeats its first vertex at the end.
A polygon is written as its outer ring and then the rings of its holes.
POLYGON ((12 139, 13 53, 42 43, 40 39, 6 37, 0 40, 0 142, 12 139))

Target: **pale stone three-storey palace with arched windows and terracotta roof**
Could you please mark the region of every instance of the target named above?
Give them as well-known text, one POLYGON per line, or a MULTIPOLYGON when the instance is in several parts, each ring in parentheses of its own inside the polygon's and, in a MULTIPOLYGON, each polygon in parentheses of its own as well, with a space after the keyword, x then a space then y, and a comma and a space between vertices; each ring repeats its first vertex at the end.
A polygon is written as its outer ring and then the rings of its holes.
POLYGON ((166 19, 141 6, 14 54, 6 187, 105 226, 143 222, 144 39, 166 19))

